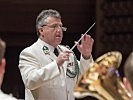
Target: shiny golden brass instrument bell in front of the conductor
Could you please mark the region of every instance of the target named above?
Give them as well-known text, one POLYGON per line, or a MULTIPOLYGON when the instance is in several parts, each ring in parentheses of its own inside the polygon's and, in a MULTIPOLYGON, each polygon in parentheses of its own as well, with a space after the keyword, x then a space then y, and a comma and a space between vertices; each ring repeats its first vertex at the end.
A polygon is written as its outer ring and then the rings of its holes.
POLYGON ((125 88, 117 68, 122 54, 108 52, 97 58, 80 78, 75 88, 75 97, 94 96, 98 100, 130 100, 131 94, 125 88))

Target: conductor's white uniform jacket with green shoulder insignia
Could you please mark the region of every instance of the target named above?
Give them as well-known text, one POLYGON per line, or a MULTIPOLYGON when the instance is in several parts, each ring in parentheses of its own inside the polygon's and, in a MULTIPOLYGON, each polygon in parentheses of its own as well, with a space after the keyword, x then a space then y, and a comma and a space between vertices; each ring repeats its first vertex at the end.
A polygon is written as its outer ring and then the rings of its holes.
MULTIPOLYGON (((67 48, 59 45, 61 50, 67 48)), ((74 100, 73 90, 75 80, 66 75, 68 63, 60 69, 53 53, 54 48, 41 39, 20 53, 19 69, 25 84, 25 100, 74 100), (48 47, 48 50, 47 48, 48 47)), ((73 54, 69 64, 73 66, 73 54)), ((83 59, 79 62, 80 73, 84 73, 93 63, 93 59, 83 59)))

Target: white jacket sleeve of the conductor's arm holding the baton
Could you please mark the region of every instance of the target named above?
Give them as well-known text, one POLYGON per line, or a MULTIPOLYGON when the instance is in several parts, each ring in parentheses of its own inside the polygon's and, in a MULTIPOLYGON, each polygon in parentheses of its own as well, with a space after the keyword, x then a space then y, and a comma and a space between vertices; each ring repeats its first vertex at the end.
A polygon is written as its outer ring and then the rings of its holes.
POLYGON ((56 61, 40 66, 35 56, 21 52, 19 69, 26 88, 34 90, 60 74, 56 61))

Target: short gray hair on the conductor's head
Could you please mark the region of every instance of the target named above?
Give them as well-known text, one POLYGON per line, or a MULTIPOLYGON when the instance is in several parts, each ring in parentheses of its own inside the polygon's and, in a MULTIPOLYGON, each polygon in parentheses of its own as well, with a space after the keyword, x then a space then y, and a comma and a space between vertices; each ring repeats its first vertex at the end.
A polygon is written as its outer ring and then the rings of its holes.
POLYGON ((37 16, 37 19, 36 19, 36 30, 37 30, 37 35, 38 36, 40 35, 38 29, 40 27, 42 27, 43 25, 47 24, 46 19, 48 17, 55 17, 55 18, 61 19, 60 13, 56 10, 52 10, 52 9, 42 10, 41 13, 37 16))

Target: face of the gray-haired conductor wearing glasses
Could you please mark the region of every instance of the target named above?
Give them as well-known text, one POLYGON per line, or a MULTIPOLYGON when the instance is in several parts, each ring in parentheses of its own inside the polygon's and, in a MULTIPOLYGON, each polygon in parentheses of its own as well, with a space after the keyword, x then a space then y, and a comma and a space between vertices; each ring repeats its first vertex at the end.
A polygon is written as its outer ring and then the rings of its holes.
POLYGON ((47 24, 39 30, 41 37, 46 43, 56 47, 61 43, 63 38, 61 19, 48 17, 46 21, 47 24))

